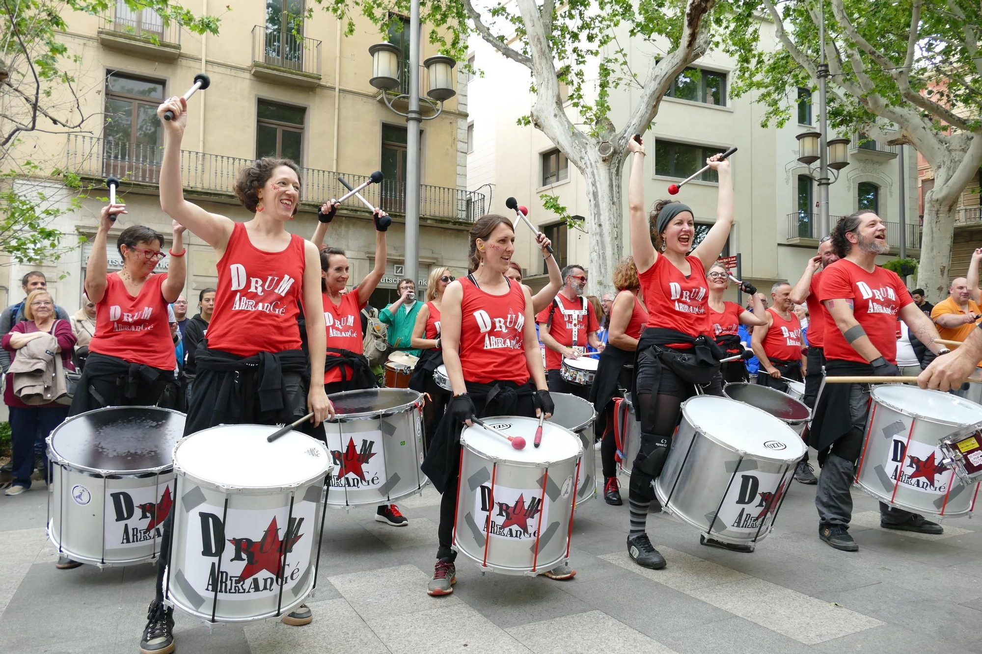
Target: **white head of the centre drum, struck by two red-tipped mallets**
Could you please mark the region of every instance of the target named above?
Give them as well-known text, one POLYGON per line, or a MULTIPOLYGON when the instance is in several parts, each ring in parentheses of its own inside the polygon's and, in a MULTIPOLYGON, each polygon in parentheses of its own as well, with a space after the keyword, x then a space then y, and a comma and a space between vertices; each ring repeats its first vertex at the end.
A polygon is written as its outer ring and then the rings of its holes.
POLYGON ((545 465, 578 457, 583 452, 578 436, 548 420, 542 423, 542 443, 537 448, 532 445, 535 428, 539 424, 536 418, 496 415, 484 418, 484 422, 509 436, 521 436, 525 439, 525 449, 516 450, 511 441, 478 424, 464 428, 461 443, 489 459, 545 465))

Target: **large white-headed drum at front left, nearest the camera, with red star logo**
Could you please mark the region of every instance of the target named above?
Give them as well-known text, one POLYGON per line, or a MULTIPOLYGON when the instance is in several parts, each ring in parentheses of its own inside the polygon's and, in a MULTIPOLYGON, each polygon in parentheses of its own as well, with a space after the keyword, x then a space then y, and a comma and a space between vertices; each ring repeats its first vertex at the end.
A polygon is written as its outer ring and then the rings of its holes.
POLYGON ((177 498, 167 601, 195 618, 242 623, 290 613, 317 581, 323 443, 276 427, 221 425, 174 448, 177 498))

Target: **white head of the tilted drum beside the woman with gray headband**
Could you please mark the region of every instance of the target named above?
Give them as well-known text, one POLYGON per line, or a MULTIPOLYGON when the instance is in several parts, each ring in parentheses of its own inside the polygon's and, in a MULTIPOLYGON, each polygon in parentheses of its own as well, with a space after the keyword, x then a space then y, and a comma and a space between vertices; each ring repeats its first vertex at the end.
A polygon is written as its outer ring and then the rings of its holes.
POLYGON ((788 462, 804 456, 805 444, 770 413, 713 395, 682 403, 682 415, 707 438, 754 459, 788 462))

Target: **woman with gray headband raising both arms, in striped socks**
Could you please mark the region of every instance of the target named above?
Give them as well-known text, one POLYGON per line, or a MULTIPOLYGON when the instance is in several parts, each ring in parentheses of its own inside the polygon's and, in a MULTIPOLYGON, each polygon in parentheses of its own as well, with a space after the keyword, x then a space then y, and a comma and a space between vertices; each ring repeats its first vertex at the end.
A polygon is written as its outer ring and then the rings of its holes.
MULTIPOLYGON (((652 482, 658 477, 682 416, 682 402, 695 395, 695 385, 709 395, 723 395, 719 360, 723 351, 707 335, 709 289, 706 270, 719 257, 734 223, 734 190, 730 162, 714 155, 706 164, 719 176, 716 222, 694 249, 695 217, 682 202, 661 200, 644 209, 644 145, 635 136, 627 144, 634 153, 627 186, 631 253, 637 265, 649 318, 637 344, 635 394, 641 419, 640 451, 630 472, 627 498, 630 531, 627 553, 637 565, 654 570, 665 559, 645 533, 648 506, 655 500, 652 482), (654 245, 652 245, 654 241, 654 245), (691 250, 691 252, 690 252, 691 250)), ((751 551, 700 537, 703 545, 751 551)))

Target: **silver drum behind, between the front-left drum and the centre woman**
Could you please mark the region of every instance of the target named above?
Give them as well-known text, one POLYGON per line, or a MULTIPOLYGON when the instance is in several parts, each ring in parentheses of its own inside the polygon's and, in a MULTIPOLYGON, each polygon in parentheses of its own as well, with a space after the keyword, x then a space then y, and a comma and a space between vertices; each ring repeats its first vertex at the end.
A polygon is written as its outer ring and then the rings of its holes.
POLYGON ((324 422, 335 470, 330 507, 391 504, 429 481, 423 461, 423 396, 408 388, 372 388, 328 396, 337 416, 324 422))

